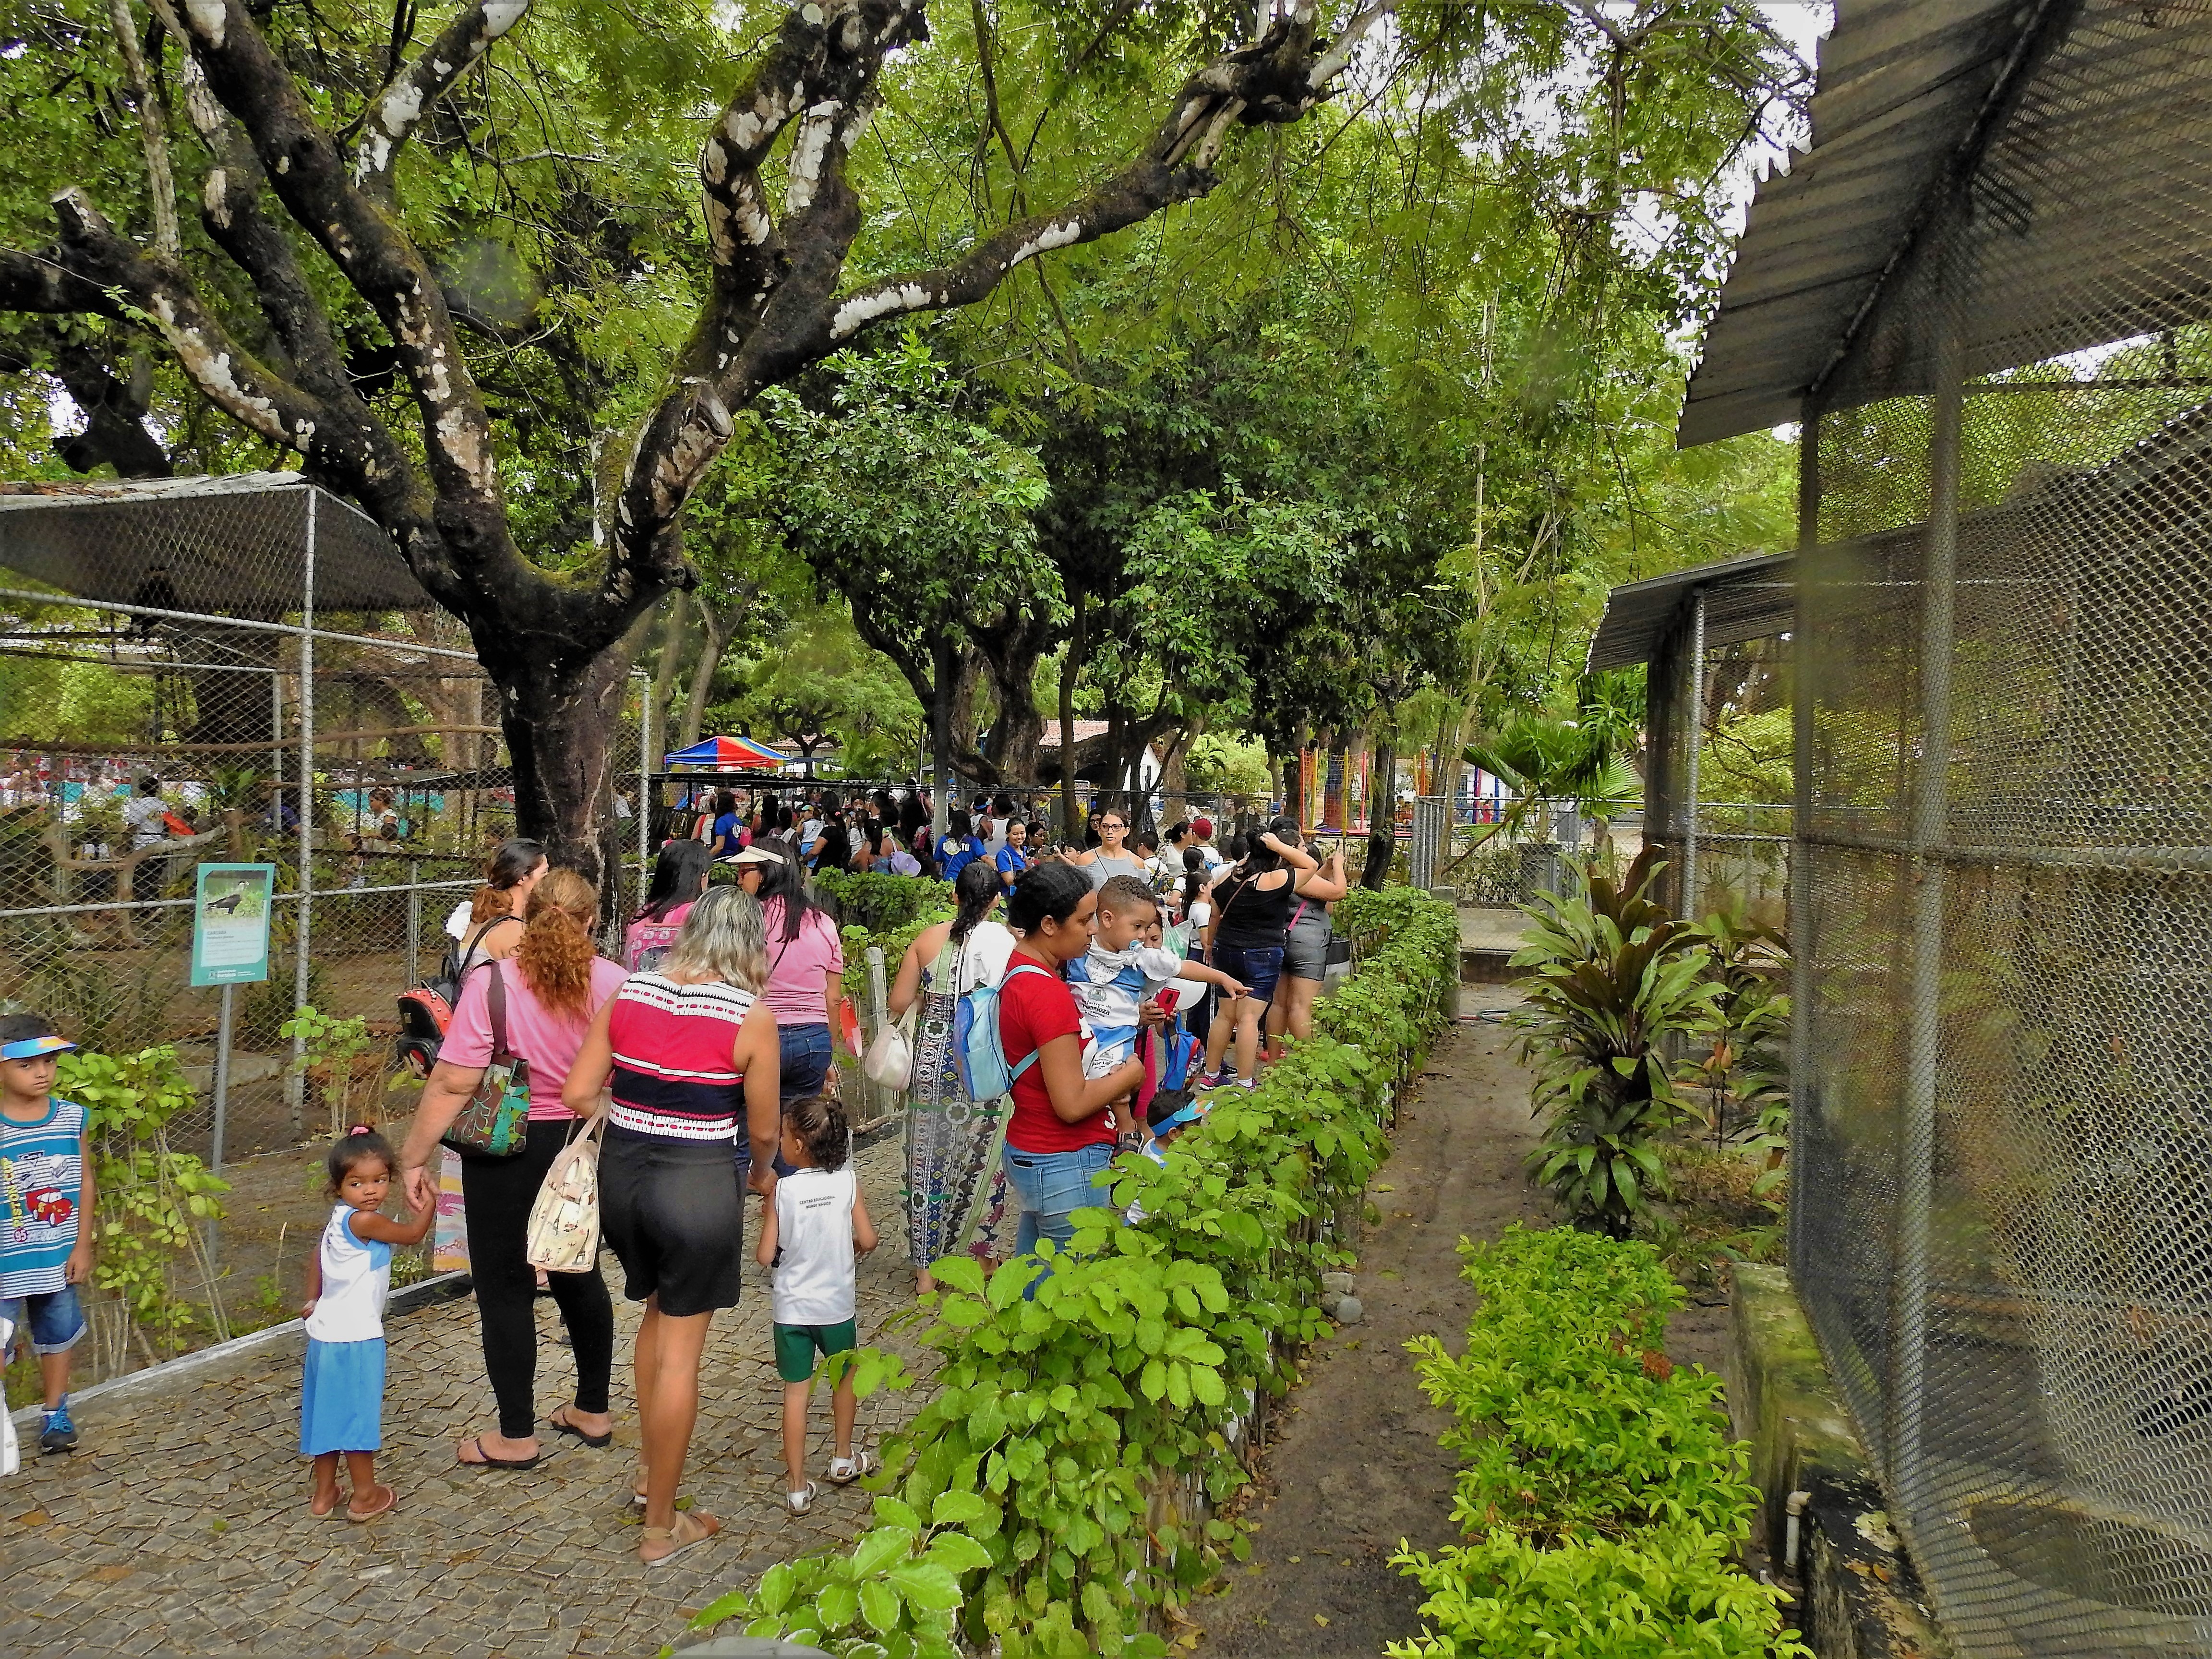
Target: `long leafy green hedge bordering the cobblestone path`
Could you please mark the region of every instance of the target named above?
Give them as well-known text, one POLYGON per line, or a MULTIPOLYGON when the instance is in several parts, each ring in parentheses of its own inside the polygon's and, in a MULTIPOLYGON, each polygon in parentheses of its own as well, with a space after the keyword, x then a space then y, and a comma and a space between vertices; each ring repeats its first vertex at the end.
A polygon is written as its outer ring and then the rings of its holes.
MULTIPOLYGON (((1349 1261, 1336 1217, 1363 1203, 1391 1091, 1458 973, 1458 918, 1425 894, 1356 894, 1340 920, 1356 971, 1314 1040, 1221 1097, 1166 1166, 1115 1166, 1113 1199, 1141 1199, 1141 1225, 1079 1210, 1029 1301, 1033 1261, 989 1283, 967 1256, 936 1265, 945 1290, 914 1314, 940 1356, 936 1398, 885 1444, 876 1524, 852 1551, 770 1568, 695 1628, 739 1621, 869 1659, 1166 1652, 1148 1615, 1248 1544, 1157 1504, 1192 1486, 1219 1504, 1248 1480, 1230 1440, 1327 1329, 1321 1274, 1349 1261)), ((885 1360, 858 1367, 867 1387, 885 1360)))

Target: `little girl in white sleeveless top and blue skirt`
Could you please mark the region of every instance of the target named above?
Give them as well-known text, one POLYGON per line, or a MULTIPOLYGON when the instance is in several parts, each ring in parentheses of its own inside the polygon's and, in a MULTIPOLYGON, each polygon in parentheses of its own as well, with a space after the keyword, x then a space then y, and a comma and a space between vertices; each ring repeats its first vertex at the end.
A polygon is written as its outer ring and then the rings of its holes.
POLYGON ((338 1509, 338 1458, 354 1480, 345 1520, 367 1522, 400 1495, 376 1482, 385 1444, 385 1296, 392 1294, 392 1245, 422 1243, 434 1206, 414 1221, 378 1210, 392 1192, 396 1159, 385 1137, 354 1124, 330 1148, 330 1221, 307 1265, 307 1376, 301 1385, 299 1449, 314 1458, 312 1515, 338 1509))

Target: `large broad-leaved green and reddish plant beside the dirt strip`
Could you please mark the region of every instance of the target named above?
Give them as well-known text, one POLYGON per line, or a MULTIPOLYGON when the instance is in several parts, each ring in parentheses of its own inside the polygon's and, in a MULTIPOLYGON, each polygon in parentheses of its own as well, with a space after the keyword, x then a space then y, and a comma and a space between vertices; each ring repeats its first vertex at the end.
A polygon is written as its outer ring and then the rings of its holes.
POLYGON ((1524 907, 1535 927, 1513 953, 1528 1004, 1509 1024, 1546 1119, 1528 1168, 1577 1228, 1626 1239, 1666 1181, 1650 1139, 1686 1110, 1668 1048, 1717 1029, 1721 987, 1703 931, 1648 896, 1650 849, 1619 878, 1571 869, 1573 891, 1524 907))

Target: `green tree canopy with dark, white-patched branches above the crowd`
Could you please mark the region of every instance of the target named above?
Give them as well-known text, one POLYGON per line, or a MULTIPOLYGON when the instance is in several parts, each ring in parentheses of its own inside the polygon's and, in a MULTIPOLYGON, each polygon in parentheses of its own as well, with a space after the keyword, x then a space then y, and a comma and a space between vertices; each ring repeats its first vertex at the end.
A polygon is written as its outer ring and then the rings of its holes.
POLYGON ((641 637, 805 726, 880 677, 761 653, 845 617, 978 776, 1283 757, 1559 703, 1610 582, 1781 538, 1783 445, 1670 451, 1807 80, 1734 0, 135 4, 4 29, 11 465, 361 500, 577 860, 641 637))

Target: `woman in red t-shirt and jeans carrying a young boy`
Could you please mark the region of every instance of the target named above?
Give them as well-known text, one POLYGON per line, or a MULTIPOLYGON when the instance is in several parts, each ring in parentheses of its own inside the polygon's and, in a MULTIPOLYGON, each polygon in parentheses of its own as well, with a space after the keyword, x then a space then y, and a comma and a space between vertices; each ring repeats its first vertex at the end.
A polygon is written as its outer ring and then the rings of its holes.
POLYGON ((1022 1206, 1020 1254, 1035 1250, 1037 1239, 1066 1248, 1075 1210, 1106 1203, 1093 1181, 1113 1161, 1119 1135, 1113 1102, 1144 1082, 1141 1060, 1084 1077, 1075 993, 1060 964, 1091 949, 1097 907, 1091 872, 1075 865, 1035 865, 1006 898, 1006 925, 1022 936, 998 993, 1006 1064, 1022 1066, 1006 1121, 1006 1186, 1022 1206))

